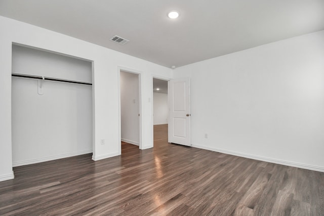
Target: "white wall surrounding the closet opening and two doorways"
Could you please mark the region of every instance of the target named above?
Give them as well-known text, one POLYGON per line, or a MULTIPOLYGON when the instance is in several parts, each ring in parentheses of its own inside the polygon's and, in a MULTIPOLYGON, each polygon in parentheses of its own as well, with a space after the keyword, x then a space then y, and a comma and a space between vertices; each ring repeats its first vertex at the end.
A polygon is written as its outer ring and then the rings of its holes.
POLYGON ((93 159, 120 154, 118 66, 141 71, 142 143, 153 146, 152 74, 172 77, 172 70, 89 42, 0 16, 0 181, 13 178, 11 133, 12 44, 50 50, 93 61, 93 159), (105 145, 101 145, 105 139, 105 145))

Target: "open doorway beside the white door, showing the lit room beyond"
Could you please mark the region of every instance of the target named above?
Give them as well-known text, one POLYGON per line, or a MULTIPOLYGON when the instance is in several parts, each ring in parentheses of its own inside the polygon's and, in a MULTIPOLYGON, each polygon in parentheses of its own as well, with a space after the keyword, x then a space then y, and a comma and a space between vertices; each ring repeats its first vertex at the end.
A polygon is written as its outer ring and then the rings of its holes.
POLYGON ((153 77, 153 145, 168 141, 168 80, 153 77))

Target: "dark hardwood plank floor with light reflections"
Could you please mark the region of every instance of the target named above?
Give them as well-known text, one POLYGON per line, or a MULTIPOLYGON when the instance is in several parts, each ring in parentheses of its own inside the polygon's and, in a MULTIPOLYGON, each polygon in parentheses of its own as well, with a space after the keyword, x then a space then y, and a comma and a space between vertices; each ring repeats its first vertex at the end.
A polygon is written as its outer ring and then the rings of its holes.
POLYGON ((167 142, 15 167, 0 215, 324 215, 324 173, 167 142))

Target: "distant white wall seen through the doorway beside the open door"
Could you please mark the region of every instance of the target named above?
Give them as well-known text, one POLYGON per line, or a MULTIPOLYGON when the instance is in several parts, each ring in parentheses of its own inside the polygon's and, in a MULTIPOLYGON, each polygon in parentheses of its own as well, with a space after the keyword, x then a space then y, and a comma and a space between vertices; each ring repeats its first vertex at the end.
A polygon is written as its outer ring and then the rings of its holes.
POLYGON ((154 125, 168 123, 168 94, 153 92, 154 125))

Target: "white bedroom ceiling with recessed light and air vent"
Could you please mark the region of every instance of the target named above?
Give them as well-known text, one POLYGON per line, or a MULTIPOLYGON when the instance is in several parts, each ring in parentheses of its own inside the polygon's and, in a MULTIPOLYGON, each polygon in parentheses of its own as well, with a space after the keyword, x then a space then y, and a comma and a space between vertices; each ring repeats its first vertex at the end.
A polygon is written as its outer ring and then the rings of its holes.
POLYGON ((0 0, 0 15, 167 67, 324 30, 324 0, 0 0))

